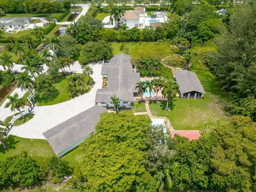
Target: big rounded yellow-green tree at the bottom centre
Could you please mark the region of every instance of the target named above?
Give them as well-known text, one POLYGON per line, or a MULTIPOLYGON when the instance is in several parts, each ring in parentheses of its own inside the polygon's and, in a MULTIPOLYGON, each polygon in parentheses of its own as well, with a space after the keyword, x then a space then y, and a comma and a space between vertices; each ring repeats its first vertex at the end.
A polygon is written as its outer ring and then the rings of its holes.
MULTIPOLYGON (((146 174, 145 139, 149 124, 148 117, 134 116, 130 111, 101 115, 97 134, 81 144, 84 153, 79 169, 88 189, 127 191, 144 182, 141 177, 146 174)), ((147 178, 153 179, 150 174, 147 178)), ((149 186, 150 183, 145 185, 149 186)), ((151 183, 151 187, 155 186, 151 183)))

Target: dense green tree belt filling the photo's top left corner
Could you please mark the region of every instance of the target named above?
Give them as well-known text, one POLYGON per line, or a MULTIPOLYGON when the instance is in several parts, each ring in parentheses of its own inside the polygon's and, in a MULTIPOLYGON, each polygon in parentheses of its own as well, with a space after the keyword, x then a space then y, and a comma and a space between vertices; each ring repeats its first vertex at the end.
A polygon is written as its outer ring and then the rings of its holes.
POLYGON ((61 13, 70 8, 70 1, 50 0, 1 0, 0 9, 5 13, 61 13))

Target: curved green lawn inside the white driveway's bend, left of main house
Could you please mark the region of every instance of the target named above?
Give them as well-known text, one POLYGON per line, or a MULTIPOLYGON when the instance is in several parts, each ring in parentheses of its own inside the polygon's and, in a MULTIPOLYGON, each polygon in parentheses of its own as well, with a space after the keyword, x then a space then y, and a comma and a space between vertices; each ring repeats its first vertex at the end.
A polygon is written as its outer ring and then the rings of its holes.
MULTIPOLYGON (((85 76, 85 78, 86 81, 89 81, 87 76, 85 76)), ((70 93, 66 90, 66 87, 68 86, 67 77, 61 76, 55 81, 54 85, 55 89, 52 90, 50 96, 43 98, 35 97, 38 106, 54 105, 71 99, 70 93)))

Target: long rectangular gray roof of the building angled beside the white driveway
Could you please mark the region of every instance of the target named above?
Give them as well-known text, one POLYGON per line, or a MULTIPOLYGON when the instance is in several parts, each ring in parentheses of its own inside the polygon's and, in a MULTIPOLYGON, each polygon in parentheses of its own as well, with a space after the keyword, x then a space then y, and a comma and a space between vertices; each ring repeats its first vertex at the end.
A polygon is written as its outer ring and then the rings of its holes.
POLYGON ((74 145, 95 132, 95 126, 100 121, 100 115, 105 108, 95 105, 67 121, 43 133, 52 146, 55 154, 74 145))

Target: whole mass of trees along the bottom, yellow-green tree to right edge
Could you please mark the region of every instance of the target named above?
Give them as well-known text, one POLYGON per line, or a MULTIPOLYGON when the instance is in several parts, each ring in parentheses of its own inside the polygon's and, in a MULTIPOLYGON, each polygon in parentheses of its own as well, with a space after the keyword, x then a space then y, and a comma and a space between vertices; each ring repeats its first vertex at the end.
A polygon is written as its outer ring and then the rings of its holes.
POLYGON ((68 186, 93 191, 255 191, 255 130, 233 116, 210 136, 169 139, 163 126, 130 111, 102 114, 68 186))

